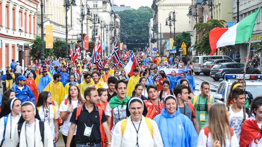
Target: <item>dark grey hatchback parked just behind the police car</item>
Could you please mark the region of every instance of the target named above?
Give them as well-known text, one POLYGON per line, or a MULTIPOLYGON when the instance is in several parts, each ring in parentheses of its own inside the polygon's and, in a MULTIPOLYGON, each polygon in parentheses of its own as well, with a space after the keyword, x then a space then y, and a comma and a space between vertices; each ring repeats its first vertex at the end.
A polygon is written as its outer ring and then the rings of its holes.
MULTIPOLYGON (((210 77, 215 81, 220 78, 225 78, 224 75, 227 74, 242 74, 244 71, 244 64, 242 63, 221 63, 215 64, 210 72, 210 77)), ((260 70, 246 67, 246 74, 261 74, 260 70)))

